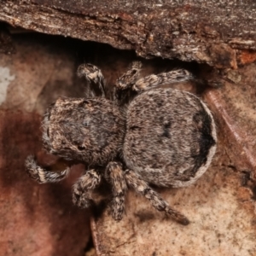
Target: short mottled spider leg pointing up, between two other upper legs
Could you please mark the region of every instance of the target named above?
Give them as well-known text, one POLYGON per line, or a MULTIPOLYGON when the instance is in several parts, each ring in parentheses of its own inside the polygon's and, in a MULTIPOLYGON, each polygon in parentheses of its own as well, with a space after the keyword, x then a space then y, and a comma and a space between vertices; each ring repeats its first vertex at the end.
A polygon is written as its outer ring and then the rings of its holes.
POLYGON ((133 61, 131 67, 114 84, 114 101, 123 102, 129 89, 135 84, 142 67, 141 61, 133 61))

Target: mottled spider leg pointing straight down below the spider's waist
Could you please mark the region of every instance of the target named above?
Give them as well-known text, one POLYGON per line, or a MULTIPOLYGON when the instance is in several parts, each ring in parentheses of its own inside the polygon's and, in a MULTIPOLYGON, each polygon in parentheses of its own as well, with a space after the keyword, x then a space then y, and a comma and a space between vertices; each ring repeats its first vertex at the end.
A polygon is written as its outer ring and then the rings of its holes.
POLYGON ((105 177, 112 184, 113 201, 111 202, 111 213, 113 219, 121 220, 125 212, 125 182, 122 166, 118 162, 110 162, 106 168, 105 177))

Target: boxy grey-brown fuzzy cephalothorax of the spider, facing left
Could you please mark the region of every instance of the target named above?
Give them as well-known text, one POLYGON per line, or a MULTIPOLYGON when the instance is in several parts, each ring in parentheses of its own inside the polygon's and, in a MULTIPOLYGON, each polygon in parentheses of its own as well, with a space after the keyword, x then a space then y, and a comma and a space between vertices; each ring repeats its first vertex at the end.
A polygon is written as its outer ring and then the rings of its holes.
POLYGON ((59 98, 44 114, 43 142, 51 154, 107 165, 123 143, 125 119, 104 98, 59 98), (75 158, 74 158, 75 155, 75 158))

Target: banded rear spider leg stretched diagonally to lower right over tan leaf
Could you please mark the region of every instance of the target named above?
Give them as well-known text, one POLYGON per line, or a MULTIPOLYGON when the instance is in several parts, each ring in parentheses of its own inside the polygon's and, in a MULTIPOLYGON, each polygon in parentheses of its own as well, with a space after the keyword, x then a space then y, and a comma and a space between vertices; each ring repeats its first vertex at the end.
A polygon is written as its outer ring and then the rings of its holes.
POLYGON ((173 210, 166 201, 164 201, 158 193, 148 186, 148 183, 143 181, 141 177, 136 172, 131 170, 125 171, 125 180, 133 189, 137 191, 138 194, 144 195, 148 201, 151 202, 152 206, 158 211, 164 211, 171 218, 176 220, 178 223, 187 225, 189 224, 189 219, 186 218, 180 212, 173 210))

